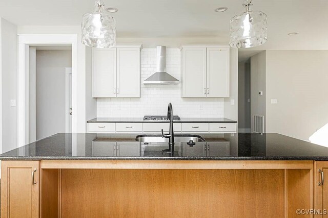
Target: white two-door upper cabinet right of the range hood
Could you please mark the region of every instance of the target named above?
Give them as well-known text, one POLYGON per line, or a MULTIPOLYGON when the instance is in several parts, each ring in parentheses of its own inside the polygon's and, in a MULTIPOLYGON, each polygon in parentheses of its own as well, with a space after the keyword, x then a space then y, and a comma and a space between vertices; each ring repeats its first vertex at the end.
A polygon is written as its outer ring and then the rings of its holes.
POLYGON ((228 98, 229 56, 227 45, 182 45, 181 97, 228 98))

